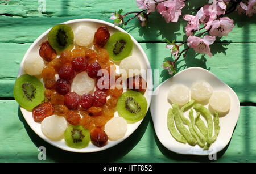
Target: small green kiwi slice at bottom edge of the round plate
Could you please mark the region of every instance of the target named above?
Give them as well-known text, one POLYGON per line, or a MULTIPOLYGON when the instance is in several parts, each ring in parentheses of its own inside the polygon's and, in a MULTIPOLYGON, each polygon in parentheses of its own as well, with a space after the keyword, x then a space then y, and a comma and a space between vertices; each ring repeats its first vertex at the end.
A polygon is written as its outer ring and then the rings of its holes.
POLYGON ((84 148, 89 145, 90 131, 81 125, 70 125, 64 132, 65 142, 72 148, 84 148))

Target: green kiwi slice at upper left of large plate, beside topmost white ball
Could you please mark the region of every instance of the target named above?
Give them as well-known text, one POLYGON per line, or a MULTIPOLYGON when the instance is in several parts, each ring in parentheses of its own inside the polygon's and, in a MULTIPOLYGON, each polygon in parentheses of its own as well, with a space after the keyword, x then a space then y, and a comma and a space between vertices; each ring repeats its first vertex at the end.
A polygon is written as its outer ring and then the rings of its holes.
POLYGON ((48 35, 49 44, 58 52, 70 49, 74 43, 74 33, 67 24, 58 24, 52 27, 48 35))

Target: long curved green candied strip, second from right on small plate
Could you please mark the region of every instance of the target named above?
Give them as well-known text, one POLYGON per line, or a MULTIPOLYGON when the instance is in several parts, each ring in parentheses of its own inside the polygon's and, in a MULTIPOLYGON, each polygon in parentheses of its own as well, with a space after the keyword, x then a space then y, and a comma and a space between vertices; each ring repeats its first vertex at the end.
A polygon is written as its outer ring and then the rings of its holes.
POLYGON ((198 112, 200 112, 204 117, 205 120, 207 120, 207 145, 205 145, 205 150, 207 150, 210 147, 210 144, 212 142, 212 134, 213 134, 213 121, 212 116, 210 114, 209 109, 205 108, 203 105, 199 103, 194 104, 194 109, 198 112))

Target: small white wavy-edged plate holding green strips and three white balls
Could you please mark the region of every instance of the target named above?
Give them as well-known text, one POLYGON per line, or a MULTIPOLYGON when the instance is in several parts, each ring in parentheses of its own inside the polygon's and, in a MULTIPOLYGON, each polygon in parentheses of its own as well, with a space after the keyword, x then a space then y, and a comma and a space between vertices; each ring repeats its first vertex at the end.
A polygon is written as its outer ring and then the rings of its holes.
MULTIPOLYGON (((178 154, 209 155, 221 151, 228 145, 240 114, 240 102, 232 88, 222 82, 216 75, 200 67, 191 67, 180 71, 173 77, 164 81, 155 89, 154 93, 155 95, 152 97, 150 106, 151 116, 156 135, 159 141, 164 147, 168 148, 168 150, 178 154), (220 117, 220 133, 209 150, 203 150, 198 145, 190 146, 188 143, 183 144, 177 142, 167 128, 167 113, 168 109, 171 108, 171 104, 167 99, 170 86, 173 84, 184 84, 188 88, 191 88, 192 83, 196 80, 206 80, 213 87, 214 91, 227 92, 231 100, 230 111, 225 116, 220 117)), ((208 105, 209 104, 205 105, 205 107, 208 108, 208 105)), ((189 119, 188 112, 189 111, 185 112, 184 115, 189 119)))

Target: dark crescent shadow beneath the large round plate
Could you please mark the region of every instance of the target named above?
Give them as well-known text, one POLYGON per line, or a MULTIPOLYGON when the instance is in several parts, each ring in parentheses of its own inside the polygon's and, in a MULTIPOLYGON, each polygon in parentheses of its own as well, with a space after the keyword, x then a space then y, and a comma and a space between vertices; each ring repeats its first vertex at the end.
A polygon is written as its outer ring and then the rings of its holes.
POLYGON ((28 136, 36 147, 44 146, 47 149, 47 159, 51 159, 53 162, 117 162, 123 156, 128 154, 141 140, 150 119, 150 112, 146 114, 141 125, 131 134, 127 139, 122 141, 116 146, 108 148, 104 151, 92 152, 92 153, 76 153, 61 150, 55 146, 50 145, 42 138, 40 138, 27 124, 23 117, 22 112, 18 109, 19 120, 23 122, 28 136))

